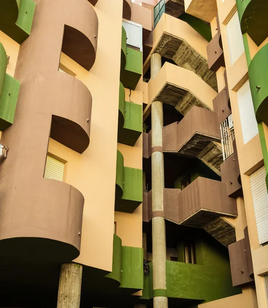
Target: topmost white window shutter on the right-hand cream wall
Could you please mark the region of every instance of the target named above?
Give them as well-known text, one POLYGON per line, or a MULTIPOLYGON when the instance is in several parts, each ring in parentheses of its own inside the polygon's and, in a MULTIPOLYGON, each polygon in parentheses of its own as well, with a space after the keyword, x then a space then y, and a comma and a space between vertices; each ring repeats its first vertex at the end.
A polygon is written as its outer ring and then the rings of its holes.
POLYGON ((228 21, 226 28, 231 64, 233 65, 245 50, 237 11, 228 21))

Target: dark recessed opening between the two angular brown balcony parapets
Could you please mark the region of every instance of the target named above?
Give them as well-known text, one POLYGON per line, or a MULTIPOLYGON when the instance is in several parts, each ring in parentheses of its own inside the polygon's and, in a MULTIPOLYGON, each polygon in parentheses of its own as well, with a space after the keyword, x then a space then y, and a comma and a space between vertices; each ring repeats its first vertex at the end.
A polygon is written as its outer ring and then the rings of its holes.
POLYGON ((165 188, 185 189, 198 177, 221 181, 221 178, 198 158, 164 153, 165 188))

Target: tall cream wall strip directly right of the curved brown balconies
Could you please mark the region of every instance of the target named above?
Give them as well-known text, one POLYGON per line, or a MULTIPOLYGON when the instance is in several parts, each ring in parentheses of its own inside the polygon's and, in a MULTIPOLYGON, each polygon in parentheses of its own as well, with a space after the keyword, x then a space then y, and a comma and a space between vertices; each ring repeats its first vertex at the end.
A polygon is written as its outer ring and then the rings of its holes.
MULTIPOLYGON (((96 62, 90 72, 62 54, 61 63, 90 89, 91 141, 82 155, 50 139, 48 151, 67 161, 66 182, 84 198, 81 253, 76 262, 112 270, 122 0, 99 1, 96 62)), ((117 226, 120 229, 120 226, 117 226)))

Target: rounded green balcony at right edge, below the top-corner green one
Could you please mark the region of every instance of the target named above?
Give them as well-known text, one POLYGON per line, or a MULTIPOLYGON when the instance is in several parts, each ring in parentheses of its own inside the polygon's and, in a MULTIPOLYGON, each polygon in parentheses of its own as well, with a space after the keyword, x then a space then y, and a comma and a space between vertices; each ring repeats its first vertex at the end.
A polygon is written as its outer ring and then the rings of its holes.
POLYGON ((257 122, 268 125, 268 44, 254 56, 248 68, 248 78, 257 122))

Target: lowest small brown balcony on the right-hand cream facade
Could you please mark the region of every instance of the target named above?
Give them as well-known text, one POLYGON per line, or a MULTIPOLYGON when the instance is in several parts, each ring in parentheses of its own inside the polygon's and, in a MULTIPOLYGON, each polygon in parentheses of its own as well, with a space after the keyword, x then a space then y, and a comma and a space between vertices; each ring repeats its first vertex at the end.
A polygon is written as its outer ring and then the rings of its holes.
POLYGON ((251 246, 247 227, 244 229, 244 235, 245 237, 242 240, 228 246, 233 286, 239 287, 254 284, 251 246))

